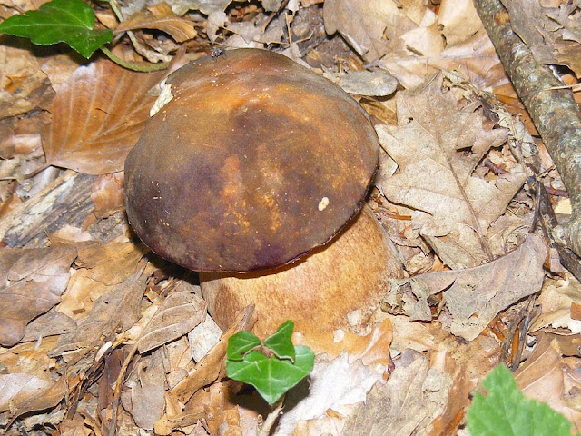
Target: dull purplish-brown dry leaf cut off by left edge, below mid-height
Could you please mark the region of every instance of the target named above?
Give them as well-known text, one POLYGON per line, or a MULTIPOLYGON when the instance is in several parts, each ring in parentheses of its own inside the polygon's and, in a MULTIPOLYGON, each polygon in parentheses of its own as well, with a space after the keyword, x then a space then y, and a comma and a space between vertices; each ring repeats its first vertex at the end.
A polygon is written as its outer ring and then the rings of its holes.
POLYGON ((11 346, 36 316, 61 301, 69 281, 74 248, 4 248, 0 251, 0 343, 11 346))

